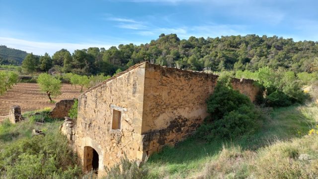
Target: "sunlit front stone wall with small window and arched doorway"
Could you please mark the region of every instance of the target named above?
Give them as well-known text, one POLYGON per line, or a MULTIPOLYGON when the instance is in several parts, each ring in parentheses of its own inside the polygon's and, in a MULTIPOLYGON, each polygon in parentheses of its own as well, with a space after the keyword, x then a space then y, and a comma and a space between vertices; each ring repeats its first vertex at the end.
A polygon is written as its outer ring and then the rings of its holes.
MULTIPOLYGON (((84 147, 96 150, 99 156, 98 175, 104 166, 111 167, 126 153, 129 159, 142 159, 140 148, 145 64, 134 67, 116 78, 79 96, 78 119, 74 128, 73 147, 81 163, 84 147), (113 109, 121 111, 121 129, 112 129, 113 109)), ((85 167, 83 168, 85 169, 85 167)))

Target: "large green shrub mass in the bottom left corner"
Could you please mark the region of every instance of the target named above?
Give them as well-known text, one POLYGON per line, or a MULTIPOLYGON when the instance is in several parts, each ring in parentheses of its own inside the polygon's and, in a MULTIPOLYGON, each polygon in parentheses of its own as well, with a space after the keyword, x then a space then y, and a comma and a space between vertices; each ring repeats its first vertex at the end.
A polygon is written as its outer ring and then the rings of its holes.
POLYGON ((0 152, 0 175, 8 179, 73 179, 79 174, 76 156, 59 133, 16 140, 0 152))

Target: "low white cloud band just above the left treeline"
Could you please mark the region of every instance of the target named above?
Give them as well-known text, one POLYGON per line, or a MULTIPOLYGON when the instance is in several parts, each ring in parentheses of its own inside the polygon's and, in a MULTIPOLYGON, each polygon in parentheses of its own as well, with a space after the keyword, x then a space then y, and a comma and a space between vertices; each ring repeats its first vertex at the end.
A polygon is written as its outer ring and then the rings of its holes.
POLYGON ((56 51, 65 48, 71 53, 77 49, 87 49, 89 47, 104 47, 108 49, 113 46, 111 44, 94 44, 94 43, 52 43, 52 42, 36 42, 27 41, 22 39, 0 37, 0 44, 6 45, 9 48, 15 48, 19 50, 26 51, 28 53, 33 53, 36 55, 44 55, 44 53, 49 53, 53 55, 56 51))

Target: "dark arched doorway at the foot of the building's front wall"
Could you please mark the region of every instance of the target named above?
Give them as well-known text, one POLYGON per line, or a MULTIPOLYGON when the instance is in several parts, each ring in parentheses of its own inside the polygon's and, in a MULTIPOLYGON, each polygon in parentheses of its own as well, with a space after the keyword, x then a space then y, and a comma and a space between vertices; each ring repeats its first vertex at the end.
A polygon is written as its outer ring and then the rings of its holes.
POLYGON ((99 155, 92 147, 84 147, 84 172, 90 172, 92 170, 98 173, 99 155))

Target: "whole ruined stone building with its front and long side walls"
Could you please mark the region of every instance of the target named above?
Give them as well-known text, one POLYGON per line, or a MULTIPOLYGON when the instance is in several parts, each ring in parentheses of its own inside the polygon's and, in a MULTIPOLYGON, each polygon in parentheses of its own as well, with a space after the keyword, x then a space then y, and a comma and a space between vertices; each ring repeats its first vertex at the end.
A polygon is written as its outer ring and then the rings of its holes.
MULTIPOLYGON (((218 76, 147 62, 88 89, 79 96, 78 118, 68 138, 83 170, 104 175, 125 153, 143 161, 165 145, 191 134, 208 115, 206 99, 218 76)), ((233 87, 253 101, 251 80, 233 79, 233 87)))

